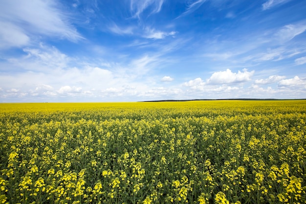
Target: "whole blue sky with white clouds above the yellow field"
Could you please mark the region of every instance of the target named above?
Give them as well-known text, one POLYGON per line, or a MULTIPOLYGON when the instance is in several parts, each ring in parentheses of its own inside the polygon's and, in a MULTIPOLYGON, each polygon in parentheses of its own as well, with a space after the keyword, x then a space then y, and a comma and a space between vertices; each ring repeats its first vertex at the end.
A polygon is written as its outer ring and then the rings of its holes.
POLYGON ((0 102, 306 98, 305 0, 0 5, 0 102))

